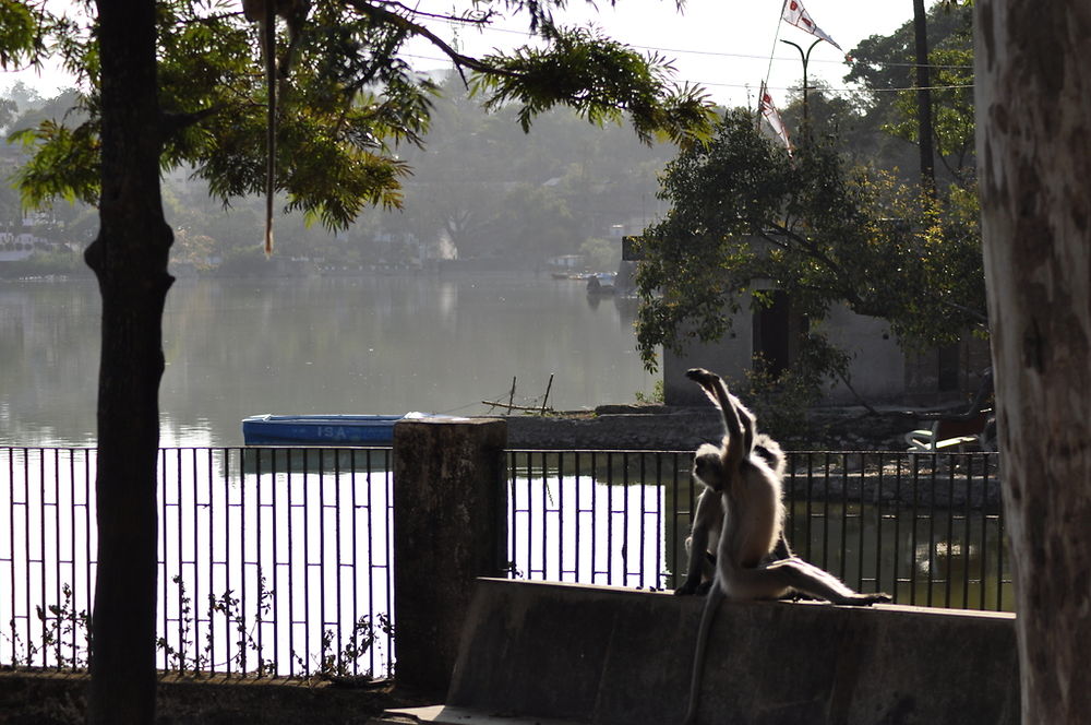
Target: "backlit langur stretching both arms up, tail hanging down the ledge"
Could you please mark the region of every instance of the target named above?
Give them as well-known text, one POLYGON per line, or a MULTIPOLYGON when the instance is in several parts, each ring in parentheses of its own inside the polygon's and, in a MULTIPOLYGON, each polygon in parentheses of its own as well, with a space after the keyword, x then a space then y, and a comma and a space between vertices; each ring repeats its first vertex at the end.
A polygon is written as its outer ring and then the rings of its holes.
MULTIPOLYGON (((686 377, 705 391, 723 417, 723 441, 705 443, 694 454, 694 475, 721 497, 723 523, 716 551, 716 573, 705 598, 690 682, 685 723, 697 716, 705 649, 712 617, 723 597, 732 601, 772 599, 800 592, 834 604, 866 606, 889 602, 886 594, 856 594, 832 574, 792 557, 763 563, 781 537, 784 506, 780 477, 753 445, 754 418, 728 392, 720 377, 702 368, 686 377)), ((694 543, 698 551, 697 543, 694 543)))

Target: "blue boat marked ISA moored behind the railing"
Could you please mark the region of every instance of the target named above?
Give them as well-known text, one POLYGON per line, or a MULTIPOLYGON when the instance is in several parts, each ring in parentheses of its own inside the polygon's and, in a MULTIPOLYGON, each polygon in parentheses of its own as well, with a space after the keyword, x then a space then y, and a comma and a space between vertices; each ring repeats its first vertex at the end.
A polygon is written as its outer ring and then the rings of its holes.
POLYGON ((247 445, 389 445, 394 424, 406 415, 252 415, 242 419, 247 445))

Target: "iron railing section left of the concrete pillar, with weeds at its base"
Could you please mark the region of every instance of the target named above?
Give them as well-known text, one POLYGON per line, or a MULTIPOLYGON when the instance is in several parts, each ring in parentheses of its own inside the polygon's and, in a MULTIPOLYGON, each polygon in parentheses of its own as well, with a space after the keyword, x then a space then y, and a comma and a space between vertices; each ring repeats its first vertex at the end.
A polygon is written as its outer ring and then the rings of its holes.
MULTIPOLYGON (((388 675, 389 453, 161 449, 159 667, 388 675)), ((0 664, 86 663, 95 457, 0 449, 0 664)))

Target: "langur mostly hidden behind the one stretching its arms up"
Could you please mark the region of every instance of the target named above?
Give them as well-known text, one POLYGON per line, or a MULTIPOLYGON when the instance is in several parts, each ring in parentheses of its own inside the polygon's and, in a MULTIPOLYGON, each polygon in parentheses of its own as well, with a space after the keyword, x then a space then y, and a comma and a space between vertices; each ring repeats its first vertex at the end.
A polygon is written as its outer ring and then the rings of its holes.
MULTIPOLYGON (((735 409, 739 412, 740 418, 747 421, 743 424, 743 450, 750 448, 753 453, 759 455, 765 461, 777 479, 782 480, 784 477, 786 461, 780 443, 765 433, 758 433, 757 436, 747 435, 754 431, 754 414, 739 403, 738 399, 733 397, 733 400, 736 404, 735 409), (752 441, 751 445, 747 445, 747 440, 752 441)), ((722 495, 706 486, 697 499, 693 525, 690 530, 691 533, 685 539, 685 550, 690 557, 690 567, 686 571, 685 582, 674 590, 675 594, 704 594, 711 586, 712 575, 716 572, 715 552, 720 542, 720 532, 722 528, 722 495)), ((783 528, 781 528, 780 539, 777 542, 771 558, 789 559, 792 556, 792 549, 788 545, 783 528)))

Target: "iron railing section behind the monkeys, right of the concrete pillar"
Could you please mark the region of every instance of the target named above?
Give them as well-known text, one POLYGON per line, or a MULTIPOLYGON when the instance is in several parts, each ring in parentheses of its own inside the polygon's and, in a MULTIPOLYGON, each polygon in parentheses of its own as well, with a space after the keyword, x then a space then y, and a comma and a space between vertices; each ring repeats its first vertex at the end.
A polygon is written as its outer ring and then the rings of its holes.
MULTIPOLYGON (((688 451, 512 451, 511 573, 674 589, 700 487, 688 451)), ((795 554, 896 602, 1012 607, 995 453, 790 452, 795 554)))

